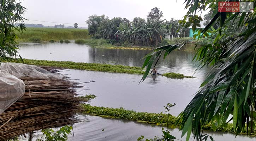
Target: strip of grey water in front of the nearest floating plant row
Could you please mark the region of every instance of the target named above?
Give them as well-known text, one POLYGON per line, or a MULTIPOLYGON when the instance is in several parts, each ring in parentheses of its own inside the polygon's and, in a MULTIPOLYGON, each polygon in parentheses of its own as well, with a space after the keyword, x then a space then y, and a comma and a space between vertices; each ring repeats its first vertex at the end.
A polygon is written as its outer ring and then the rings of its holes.
MULTIPOLYGON (((73 127, 74 137, 69 136, 70 141, 137 141, 138 137, 143 135, 146 138, 154 136, 161 137, 162 127, 149 125, 124 119, 108 119, 96 116, 87 117, 90 122, 76 123, 73 127), (104 129, 104 130, 103 130, 104 129), (102 131, 103 130, 103 131, 102 131)), ((165 128, 166 130, 166 128, 165 128)), ((246 137, 246 135, 207 132, 204 134, 212 135, 215 141, 255 141, 255 137, 246 137)), ((180 139, 181 131, 174 129, 171 135, 180 139)), ((186 140, 186 135, 181 140, 186 140)), ((190 138, 190 141, 193 141, 190 138)))

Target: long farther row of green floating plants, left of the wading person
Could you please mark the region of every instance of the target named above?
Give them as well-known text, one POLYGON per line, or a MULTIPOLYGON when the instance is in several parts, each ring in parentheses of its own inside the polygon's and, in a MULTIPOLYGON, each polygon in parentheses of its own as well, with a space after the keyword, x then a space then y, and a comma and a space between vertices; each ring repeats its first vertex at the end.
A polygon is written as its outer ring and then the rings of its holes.
MULTIPOLYGON (((130 67, 123 65, 109 65, 100 63, 77 63, 71 61, 47 61, 47 60, 30 60, 23 59, 25 64, 28 65, 40 65, 40 66, 51 66, 51 67, 62 67, 72 69, 83 69, 89 71, 101 71, 101 72, 117 72, 117 73, 132 73, 132 74, 143 74, 140 67, 130 67)), ((21 60, 18 62, 22 63, 21 60)))

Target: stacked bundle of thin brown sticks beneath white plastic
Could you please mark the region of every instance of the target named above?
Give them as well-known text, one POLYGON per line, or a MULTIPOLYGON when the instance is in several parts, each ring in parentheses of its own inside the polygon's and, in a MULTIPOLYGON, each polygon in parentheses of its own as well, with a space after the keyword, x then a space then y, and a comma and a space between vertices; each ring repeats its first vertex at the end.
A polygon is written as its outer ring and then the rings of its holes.
POLYGON ((79 103, 88 102, 78 97, 77 90, 83 87, 79 86, 81 82, 68 77, 21 79, 25 94, 0 115, 0 141, 78 122, 76 115, 82 110, 79 103))

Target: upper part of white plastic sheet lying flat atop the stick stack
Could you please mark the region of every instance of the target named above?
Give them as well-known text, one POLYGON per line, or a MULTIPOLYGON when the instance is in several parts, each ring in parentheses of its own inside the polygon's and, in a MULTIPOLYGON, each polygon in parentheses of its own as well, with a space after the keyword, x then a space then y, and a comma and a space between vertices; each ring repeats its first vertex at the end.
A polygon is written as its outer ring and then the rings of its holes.
POLYGON ((31 77, 31 78, 60 78, 61 75, 53 74, 46 71, 43 68, 26 65, 22 63, 2 63, 0 65, 0 72, 6 72, 20 77, 31 77))

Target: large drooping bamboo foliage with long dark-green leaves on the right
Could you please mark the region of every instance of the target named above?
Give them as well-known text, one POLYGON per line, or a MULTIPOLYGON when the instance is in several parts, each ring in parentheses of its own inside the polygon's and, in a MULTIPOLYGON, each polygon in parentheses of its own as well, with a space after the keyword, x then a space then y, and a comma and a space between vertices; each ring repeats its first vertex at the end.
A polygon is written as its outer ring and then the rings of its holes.
MULTIPOLYGON (((178 116, 176 123, 183 130, 181 136, 187 133, 188 141, 192 133, 194 139, 202 140, 202 129, 205 125, 214 123, 217 128, 225 128, 231 120, 236 135, 244 130, 248 134, 255 126, 256 12, 218 12, 218 3, 213 0, 185 0, 185 3, 189 11, 181 23, 184 26, 192 25, 194 31, 202 20, 202 17, 196 15, 197 10, 202 11, 209 6, 214 11, 211 22, 198 31, 199 36, 208 36, 207 31, 211 29, 214 39, 198 49, 194 57, 201 67, 213 67, 201 84, 200 91, 178 116), (217 22, 219 27, 215 30, 212 26, 217 22), (237 29, 243 29, 241 32, 228 30, 234 22, 238 23, 237 29), (229 116, 232 118, 228 118, 229 116)), ((255 8, 254 1, 254 10, 255 8)), ((177 44, 166 45, 146 55, 143 68, 147 66, 147 69, 142 81, 147 77, 155 60, 162 54, 165 59, 166 55, 177 48, 177 44)))

